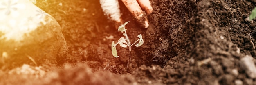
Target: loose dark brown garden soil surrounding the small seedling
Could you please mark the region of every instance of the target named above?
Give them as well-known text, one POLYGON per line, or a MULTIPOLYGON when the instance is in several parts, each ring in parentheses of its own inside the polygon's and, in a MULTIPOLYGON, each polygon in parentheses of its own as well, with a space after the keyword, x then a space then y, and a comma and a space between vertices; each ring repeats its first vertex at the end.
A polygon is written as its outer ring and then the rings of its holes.
POLYGON ((117 46, 119 58, 111 54, 112 41, 122 34, 108 22, 98 0, 45 1, 36 5, 63 28, 69 49, 65 63, 45 63, 39 78, 0 71, 0 84, 256 84, 239 65, 245 55, 256 57, 256 24, 244 20, 256 7, 250 0, 150 0, 154 11, 147 29, 120 4, 122 18, 131 21, 126 25, 131 41, 139 34, 144 39, 142 46, 132 47, 128 70, 128 48, 117 46))

